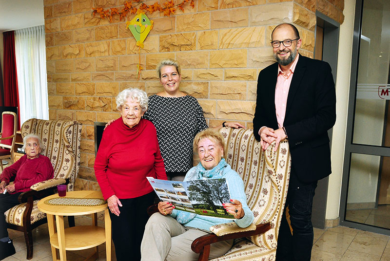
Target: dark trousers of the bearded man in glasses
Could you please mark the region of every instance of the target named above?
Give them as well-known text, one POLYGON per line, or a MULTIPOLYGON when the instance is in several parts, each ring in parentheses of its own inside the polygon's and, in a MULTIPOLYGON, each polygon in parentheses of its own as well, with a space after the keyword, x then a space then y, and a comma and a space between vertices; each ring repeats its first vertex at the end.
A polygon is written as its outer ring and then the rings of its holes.
POLYGON ((310 261, 313 245, 312 206, 317 182, 289 187, 277 239, 276 261, 310 261), (286 219, 289 207, 290 226, 286 219))

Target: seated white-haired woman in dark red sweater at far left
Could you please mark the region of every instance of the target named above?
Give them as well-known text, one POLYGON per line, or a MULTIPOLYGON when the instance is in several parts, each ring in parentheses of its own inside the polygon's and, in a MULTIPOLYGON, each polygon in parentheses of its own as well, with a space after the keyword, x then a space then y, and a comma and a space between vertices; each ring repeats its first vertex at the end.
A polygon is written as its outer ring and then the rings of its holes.
POLYGON ((23 149, 26 154, 11 166, 4 168, 0 175, 0 260, 15 254, 3 213, 20 204, 19 195, 30 190, 30 186, 53 178, 53 166, 48 157, 40 154, 41 146, 39 136, 34 134, 25 136, 23 149), (14 183, 10 184, 13 178, 14 183))

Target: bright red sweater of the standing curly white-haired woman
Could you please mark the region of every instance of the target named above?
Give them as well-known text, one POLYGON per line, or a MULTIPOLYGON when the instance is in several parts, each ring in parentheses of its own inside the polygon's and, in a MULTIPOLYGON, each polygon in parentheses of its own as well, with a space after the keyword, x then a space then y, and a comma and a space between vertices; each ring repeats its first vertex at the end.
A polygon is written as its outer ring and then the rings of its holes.
POLYGON ((129 128, 121 117, 114 121, 103 132, 94 168, 104 199, 152 192, 146 177, 167 179, 153 123, 141 119, 129 128))

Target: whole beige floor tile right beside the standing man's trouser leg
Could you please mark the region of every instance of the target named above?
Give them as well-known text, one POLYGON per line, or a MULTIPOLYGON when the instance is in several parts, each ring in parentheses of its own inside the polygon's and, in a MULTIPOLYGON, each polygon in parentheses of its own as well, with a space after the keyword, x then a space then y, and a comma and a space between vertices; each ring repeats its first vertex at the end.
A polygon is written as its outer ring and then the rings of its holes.
POLYGON ((351 244, 353 236, 326 231, 313 245, 313 249, 342 256, 351 244))

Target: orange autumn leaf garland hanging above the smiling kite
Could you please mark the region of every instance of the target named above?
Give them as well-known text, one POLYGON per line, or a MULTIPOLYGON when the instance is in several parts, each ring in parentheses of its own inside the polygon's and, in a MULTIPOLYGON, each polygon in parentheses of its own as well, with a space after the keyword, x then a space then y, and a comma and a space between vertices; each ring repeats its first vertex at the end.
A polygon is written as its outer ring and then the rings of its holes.
POLYGON ((119 15, 119 21, 121 21, 122 19, 124 20, 129 13, 136 14, 138 10, 144 12, 145 14, 147 12, 152 14, 156 11, 159 11, 163 12, 164 16, 171 16, 175 14, 176 9, 180 9, 184 12, 183 5, 186 3, 189 3, 192 8, 195 7, 194 0, 183 0, 178 4, 175 4, 174 1, 171 0, 164 2, 162 6, 157 2, 155 2, 153 5, 147 5, 141 0, 130 0, 123 3, 124 8, 120 12, 115 7, 107 10, 104 10, 102 7, 98 7, 92 8, 92 15, 95 16, 96 14, 99 14, 101 19, 108 19, 110 22, 112 22, 113 16, 115 15, 119 15), (133 4, 135 5, 133 6, 133 4))

